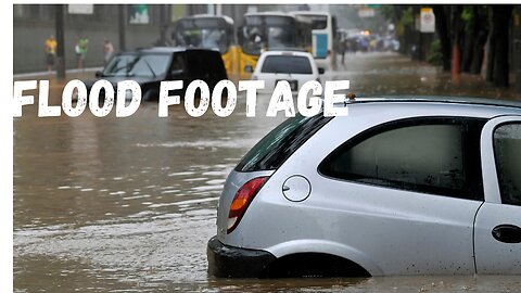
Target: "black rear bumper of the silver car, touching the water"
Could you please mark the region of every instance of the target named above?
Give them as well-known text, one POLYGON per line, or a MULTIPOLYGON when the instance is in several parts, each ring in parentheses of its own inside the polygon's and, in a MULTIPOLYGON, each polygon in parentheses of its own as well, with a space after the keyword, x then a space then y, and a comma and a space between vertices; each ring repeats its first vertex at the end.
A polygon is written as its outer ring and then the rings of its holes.
POLYGON ((208 273, 219 278, 262 278, 276 257, 265 251, 223 244, 213 237, 207 245, 208 273))

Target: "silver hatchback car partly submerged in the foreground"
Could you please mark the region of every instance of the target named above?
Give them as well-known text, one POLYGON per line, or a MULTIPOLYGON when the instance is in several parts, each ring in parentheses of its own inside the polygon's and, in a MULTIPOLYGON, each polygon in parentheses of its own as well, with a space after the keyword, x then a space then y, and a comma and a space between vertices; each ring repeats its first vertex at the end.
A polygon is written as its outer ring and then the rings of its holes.
POLYGON ((521 275, 521 103, 345 106, 288 119, 231 171, 209 273, 521 275))

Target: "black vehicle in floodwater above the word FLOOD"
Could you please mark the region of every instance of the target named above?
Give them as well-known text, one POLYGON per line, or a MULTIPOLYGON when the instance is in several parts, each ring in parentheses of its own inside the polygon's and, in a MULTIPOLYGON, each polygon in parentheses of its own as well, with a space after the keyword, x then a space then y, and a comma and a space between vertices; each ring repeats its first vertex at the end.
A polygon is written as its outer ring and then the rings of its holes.
MULTIPOLYGON (((118 81, 136 80, 141 86, 143 101, 157 100, 163 80, 183 80, 186 88, 191 81, 202 79, 213 89, 228 78, 218 51, 167 47, 116 54, 96 76, 111 81, 114 88, 118 81)), ((96 81, 87 82, 89 90, 96 81)), ((177 94, 182 97, 182 93, 177 94)))

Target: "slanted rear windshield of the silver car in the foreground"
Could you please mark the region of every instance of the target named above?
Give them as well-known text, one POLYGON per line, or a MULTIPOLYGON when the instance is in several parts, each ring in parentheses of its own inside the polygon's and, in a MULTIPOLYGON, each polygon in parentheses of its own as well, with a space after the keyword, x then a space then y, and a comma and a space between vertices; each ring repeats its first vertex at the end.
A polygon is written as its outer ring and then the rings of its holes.
POLYGON ((319 113, 312 117, 297 114, 287 119, 257 142, 237 165, 236 170, 277 169, 331 118, 319 113))

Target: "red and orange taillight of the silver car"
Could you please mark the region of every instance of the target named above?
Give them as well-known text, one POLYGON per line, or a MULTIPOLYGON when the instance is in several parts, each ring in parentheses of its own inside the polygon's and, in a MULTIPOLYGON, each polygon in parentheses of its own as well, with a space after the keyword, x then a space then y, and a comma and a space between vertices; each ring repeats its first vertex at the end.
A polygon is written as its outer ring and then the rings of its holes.
POLYGON ((244 183, 236 193, 233 201, 231 202, 230 213, 228 213, 228 230, 227 233, 231 233, 239 222, 242 216, 246 212, 247 206, 253 201, 253 198, 263 187, 268 177, 257 177, 246 183, 244 183))

